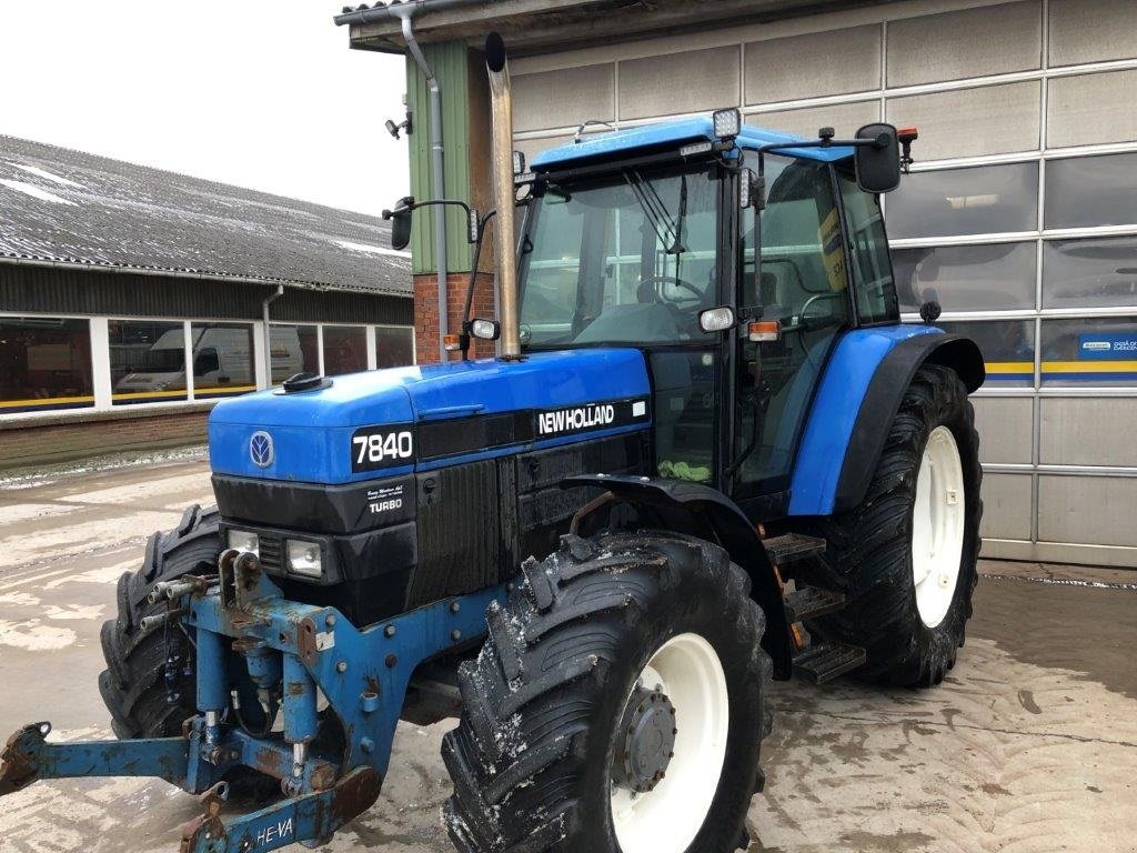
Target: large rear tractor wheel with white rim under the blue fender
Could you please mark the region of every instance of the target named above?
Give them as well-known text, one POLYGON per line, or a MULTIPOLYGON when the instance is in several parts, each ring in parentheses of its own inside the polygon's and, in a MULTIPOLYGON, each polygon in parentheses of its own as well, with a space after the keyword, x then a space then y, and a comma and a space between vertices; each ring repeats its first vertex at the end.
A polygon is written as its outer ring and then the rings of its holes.
POLYGON ((806 627, 862 646, 857 678, 932 687, 955 665, 978 580, 981 481, 966 388, 955 371, 926 364, 904 395, 864 499, 804 531, 828 543, 804 579, 847 601, 806 627))

